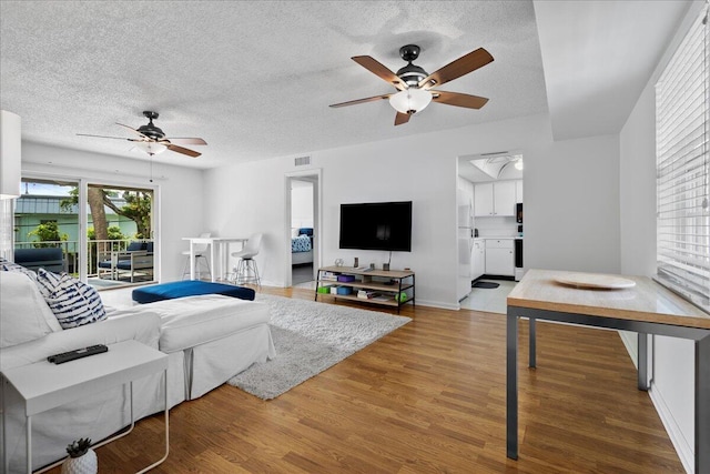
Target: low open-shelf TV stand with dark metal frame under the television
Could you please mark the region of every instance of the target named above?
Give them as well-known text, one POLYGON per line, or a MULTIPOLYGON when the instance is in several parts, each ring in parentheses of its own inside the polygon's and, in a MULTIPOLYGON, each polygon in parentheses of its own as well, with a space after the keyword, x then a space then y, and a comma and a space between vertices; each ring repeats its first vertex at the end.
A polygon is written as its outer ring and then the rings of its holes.
POLYGON ((414 305, 414 272, 409 270, 386 271, 361 270, 352 266, 323 266, 318 269, 315 301, 318 301, 318 295, 331 296, 358 303, 396 307, 397 313, 399 313, 402 305, 406 303, 414 305), (352 281, 338 281, 338 276, 345 276, 346 279, 349 276, 352 281), (345 289, 341 290, 343 293, 337 293, 338 288, 345 289), (348 291, 349 293, 346 293, 348 291), (361 291, 369 297, 358 296, 361 291), (406 294, 404 301, 402 301, 402 297, 397 297, 403 293, 406 294))

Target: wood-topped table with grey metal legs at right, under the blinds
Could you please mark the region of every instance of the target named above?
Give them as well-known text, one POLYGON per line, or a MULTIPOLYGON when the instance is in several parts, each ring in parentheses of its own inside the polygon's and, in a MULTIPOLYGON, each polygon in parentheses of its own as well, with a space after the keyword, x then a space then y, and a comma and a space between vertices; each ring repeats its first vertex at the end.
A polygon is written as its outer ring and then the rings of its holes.
POLYGON ((518 319, 529 319, 529 363, 535 360, 536 320, 633 331, 639 341, 639 390, 647 390, 647 334, 696 342, 696 473, 710 473, 710 315, 645 276, 617 276, 636 283, 616 290, 575 288, 559 280, 599 274, 529 270, 508 295, 506 437, 507 456, 518 458, 518 319))

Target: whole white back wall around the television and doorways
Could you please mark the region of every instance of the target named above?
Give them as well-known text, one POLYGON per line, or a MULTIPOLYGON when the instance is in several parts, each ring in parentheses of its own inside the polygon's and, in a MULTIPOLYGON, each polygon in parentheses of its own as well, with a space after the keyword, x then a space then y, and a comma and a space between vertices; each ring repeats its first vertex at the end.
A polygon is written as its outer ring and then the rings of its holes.
MULTIPOLYGON (((458 307, 456 158, 506 149, 526 159, 529 266, 618 271, 618 139, 552 143, 547 115, 308 153, 311 169, 323 172, 324 263, 358 256, 379 266, 388 259, 387 252, 338 249, 341 203, 412 200, 413 251, 395 252, 392 265, 417 273, 419 303, 458 307)), ((209 228, 221 235, 264 232, 256 259, 271 285, 286 281, 284 175, 296 170, 283 157, 205 172, 209 228)))

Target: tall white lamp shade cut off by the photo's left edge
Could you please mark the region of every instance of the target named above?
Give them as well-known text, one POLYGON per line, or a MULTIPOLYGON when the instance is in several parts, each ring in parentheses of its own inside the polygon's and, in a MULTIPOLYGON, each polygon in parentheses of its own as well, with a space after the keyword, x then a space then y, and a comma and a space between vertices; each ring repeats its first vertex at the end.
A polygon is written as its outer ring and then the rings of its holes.
POLYGON ((22 121, 0 110, 0 199, 20 196, 22 163, 22 121))

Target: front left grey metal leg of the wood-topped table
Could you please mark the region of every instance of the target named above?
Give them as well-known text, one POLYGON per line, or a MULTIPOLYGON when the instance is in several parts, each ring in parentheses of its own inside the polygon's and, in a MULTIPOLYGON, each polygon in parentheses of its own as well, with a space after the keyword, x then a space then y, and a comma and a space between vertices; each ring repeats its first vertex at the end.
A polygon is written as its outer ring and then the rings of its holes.
POLYGON ((508 307, 506 330, 507 456, 518 458, 518 316, 508 307))

